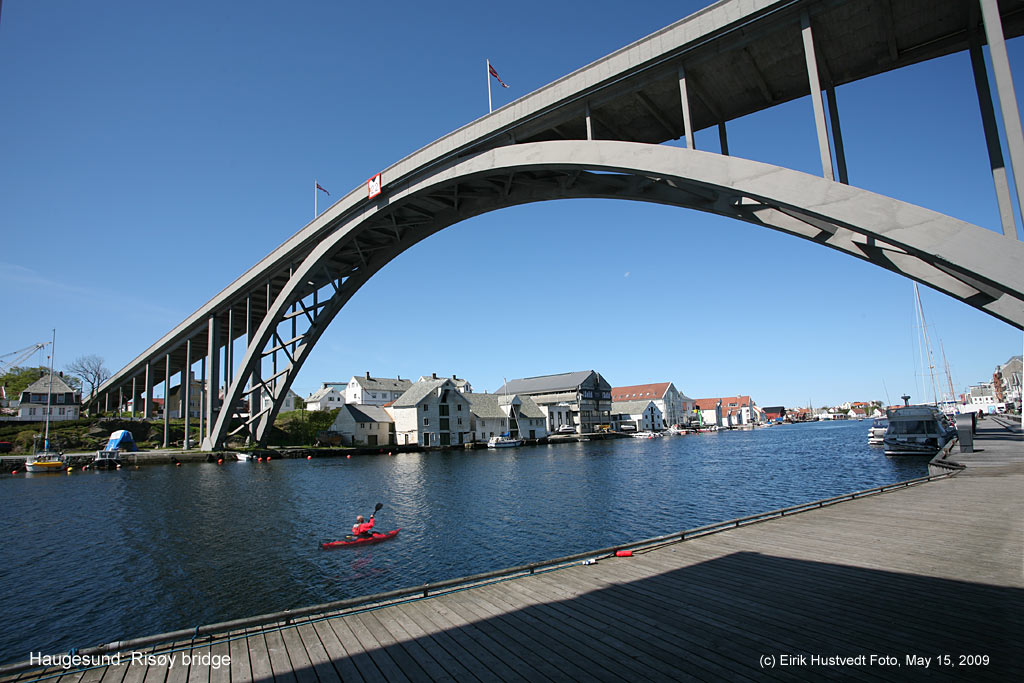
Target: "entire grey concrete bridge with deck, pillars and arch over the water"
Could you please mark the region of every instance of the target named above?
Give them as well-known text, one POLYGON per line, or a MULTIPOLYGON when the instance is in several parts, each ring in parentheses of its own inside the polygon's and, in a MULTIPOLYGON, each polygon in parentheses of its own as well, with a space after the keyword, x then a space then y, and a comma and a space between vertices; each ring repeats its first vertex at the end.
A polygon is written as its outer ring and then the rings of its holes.
POLYGON ((120 370, 91 407, 141 398, 150 417, 161 383, 165 395, 180 386, 188 405, 183 380, 198 365, 202 447, 238 432, 263 443, 324 331, 384 265, 459 221, 556 199, 654 202, 755 223, 1024 329, 1013 208, 1024 180, 1011 185, 1005 163, 1024 178, 1005 44, 1022 33, 1024 0, 723 0, 385 169, 379 185, 339 200, 120 370), (958 51, 975 68, 1001 234, 848 183, 836 86, 958 51), (729 156, 729 121, 808 94, 820 176, 729 156), (718 129, 719 150, 694 148, 693 131, 706 128, 718 129), (680 138, 685 147, 662 144, 680 138))

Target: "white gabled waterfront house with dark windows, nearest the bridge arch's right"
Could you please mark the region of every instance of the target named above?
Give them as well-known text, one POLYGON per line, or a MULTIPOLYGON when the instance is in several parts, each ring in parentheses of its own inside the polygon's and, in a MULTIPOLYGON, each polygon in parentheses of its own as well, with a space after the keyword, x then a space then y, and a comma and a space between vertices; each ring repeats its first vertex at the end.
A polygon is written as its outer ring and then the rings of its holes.
POLYGON ((391 405, 399 445, 449 446, 473 438, 469 399, 451 379, 421 380, 391 405))

